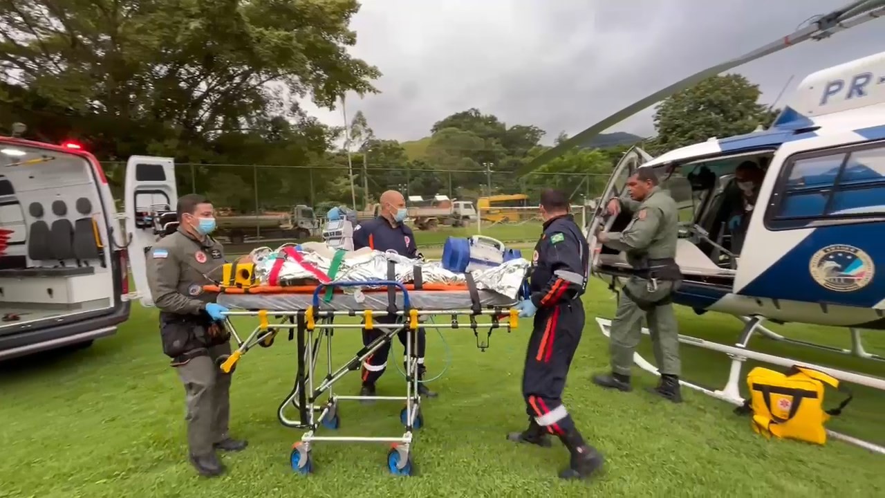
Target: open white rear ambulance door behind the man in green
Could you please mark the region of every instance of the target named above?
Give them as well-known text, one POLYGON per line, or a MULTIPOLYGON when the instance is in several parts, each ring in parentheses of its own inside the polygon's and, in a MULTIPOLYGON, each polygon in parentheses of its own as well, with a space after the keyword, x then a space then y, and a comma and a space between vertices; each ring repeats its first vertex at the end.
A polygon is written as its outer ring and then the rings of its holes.
POLYGON ((175 162, 172 158, 132 156, 126 165, 124 195, 129 267, 135 292, 142 306, 152 307, 145 254, 159 237, 156 214, 174 211, 178 203, 175 162))

